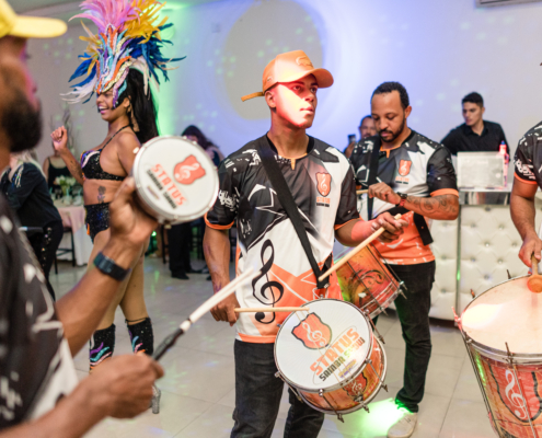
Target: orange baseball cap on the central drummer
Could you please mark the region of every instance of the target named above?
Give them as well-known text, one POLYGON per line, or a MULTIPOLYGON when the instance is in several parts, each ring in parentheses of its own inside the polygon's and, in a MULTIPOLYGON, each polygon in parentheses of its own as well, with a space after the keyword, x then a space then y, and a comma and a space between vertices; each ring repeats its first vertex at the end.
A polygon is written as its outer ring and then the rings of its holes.
POLYGON ((264 70, 262 91, 242 96, 241 100, 244 102, 249 99, 261 97, 276 83, 293 82, 309 74, 314 74, 318 87, 321 89, 333 85, 332 73, 326 69, 315 69, 303 50, 293 50, 277 55, 264 70))

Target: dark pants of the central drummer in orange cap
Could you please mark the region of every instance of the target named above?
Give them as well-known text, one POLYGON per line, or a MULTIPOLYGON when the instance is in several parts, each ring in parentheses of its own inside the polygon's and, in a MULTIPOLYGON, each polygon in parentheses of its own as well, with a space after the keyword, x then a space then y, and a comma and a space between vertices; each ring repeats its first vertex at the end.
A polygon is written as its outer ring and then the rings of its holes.
MULTIPOLYGON (((275 344, 235 341, 235 424, 232 438, 268 438, 277 419, 284 382, 275 377, 275 344)), ((300 402, 289 390, 285 438, 315 438, 324 414, 300 402)))

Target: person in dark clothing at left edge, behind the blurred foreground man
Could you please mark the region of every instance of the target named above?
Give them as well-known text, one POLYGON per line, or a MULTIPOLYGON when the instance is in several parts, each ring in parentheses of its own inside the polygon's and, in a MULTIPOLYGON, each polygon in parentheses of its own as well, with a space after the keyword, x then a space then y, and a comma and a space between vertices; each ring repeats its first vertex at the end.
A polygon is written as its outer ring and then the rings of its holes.
POLYGON ((0 187, 21 226, 43 230, 28 233, 28 241, 42 266, 47 290, 55 300, 49 273, 62 240, 62 219, 53 204, 42 169, 30 151, 11 154, 10 166, 2 174, 0 187))

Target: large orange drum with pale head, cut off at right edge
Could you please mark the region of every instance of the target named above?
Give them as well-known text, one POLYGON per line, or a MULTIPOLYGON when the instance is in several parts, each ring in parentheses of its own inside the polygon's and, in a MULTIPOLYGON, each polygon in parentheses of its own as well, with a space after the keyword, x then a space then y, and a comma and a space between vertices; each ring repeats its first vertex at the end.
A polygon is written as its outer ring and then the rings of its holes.
POLYGON ((542 437, 542 296, 512 278, 455 316, 499 437, 542 437))

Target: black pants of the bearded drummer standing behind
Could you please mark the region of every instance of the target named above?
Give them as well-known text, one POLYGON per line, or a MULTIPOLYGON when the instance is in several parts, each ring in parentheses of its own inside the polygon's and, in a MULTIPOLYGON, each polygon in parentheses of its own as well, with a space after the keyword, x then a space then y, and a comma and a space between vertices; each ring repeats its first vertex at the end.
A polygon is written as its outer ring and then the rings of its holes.
POLYGON ((429 262, 390 267, 407 288, 406 299, 400 295, 395 300, 395 309, 406 344, 403 388, 395 400, 408 411, 418 412, 418 404, 424 397, 425 378, 431 357, 429 309, 436 265, 435 262, 429 262))

